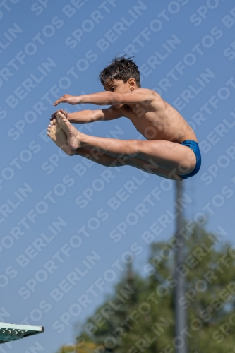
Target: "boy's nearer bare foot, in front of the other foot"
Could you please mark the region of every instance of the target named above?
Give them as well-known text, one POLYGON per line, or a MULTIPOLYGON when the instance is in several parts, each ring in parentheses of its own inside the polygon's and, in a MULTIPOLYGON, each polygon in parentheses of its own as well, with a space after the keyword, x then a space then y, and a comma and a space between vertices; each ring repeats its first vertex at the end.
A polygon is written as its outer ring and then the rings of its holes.
POLYGON ((66 116, 61 112, 56 114, 56 118, 59 126, 64 130, 67 136, 67 144, 71 150, 76 150, 80 148, 80 135, 81 133, 68 121, 66 116))

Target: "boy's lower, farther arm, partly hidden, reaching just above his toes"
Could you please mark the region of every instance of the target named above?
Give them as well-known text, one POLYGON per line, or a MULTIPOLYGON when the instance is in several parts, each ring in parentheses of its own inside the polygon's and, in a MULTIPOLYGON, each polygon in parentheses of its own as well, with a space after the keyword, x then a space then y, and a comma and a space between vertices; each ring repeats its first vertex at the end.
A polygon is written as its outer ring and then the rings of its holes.
POLYGON ((61 112, 71 123, 87 124, 93 121, 113 120, 121 118, 120 109, 109 107, 108 109, 81 110, 80 112, 67 113, 63 109, 56 110, 51 116, 51 120, 56 119, 56 114, 61 112))

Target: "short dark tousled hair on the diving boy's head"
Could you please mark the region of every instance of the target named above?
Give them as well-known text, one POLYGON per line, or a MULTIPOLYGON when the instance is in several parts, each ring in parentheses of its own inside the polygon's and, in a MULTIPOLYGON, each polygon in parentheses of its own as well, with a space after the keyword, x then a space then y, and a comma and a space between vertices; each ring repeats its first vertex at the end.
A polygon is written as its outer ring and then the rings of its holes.
POLYGON ((126 59, 126 55, 115 57, 112 63, 101 71, 99 78, 102 85, 113 80, 123 80, 124 83, 129 78, 135 78, 136 84, 140 88, 140 71, 135 61, 131 58, 126 59))

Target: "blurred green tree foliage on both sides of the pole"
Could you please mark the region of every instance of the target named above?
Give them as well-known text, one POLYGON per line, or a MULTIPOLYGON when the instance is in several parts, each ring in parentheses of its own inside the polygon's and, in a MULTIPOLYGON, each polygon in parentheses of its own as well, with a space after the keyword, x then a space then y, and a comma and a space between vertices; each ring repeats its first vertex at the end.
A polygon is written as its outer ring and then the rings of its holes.
POLYGON ((235 352, 235 249, 224 242, 223 229, 211 234, 191 224, 190 234, 183 236, 181 268, 174 268, 174 251, 180 246, 176 238, 151 244, 147 276, 133 273, 130 265, 112 297, 83 325, 78 340, 94 342, 94 353, 174 352, 180 344, 174 340, 177 270, 186 278, 180 304, 188 311, 188 353, 235 352))

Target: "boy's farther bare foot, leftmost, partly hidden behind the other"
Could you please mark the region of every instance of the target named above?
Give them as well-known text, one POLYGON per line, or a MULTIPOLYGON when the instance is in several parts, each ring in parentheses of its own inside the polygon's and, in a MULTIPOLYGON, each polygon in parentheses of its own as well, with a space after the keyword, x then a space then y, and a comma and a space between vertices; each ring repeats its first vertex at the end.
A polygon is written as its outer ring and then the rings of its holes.
POLYGON ((62 130, 56 121, 54 121, 52 125, 48 125, 47 131, 49 138, 52 138, 52 141, 59 148, 61 148, 61 150, 66 153, 66 155, 75 155, 75 151, 68 147, 66 133, 62 130))

